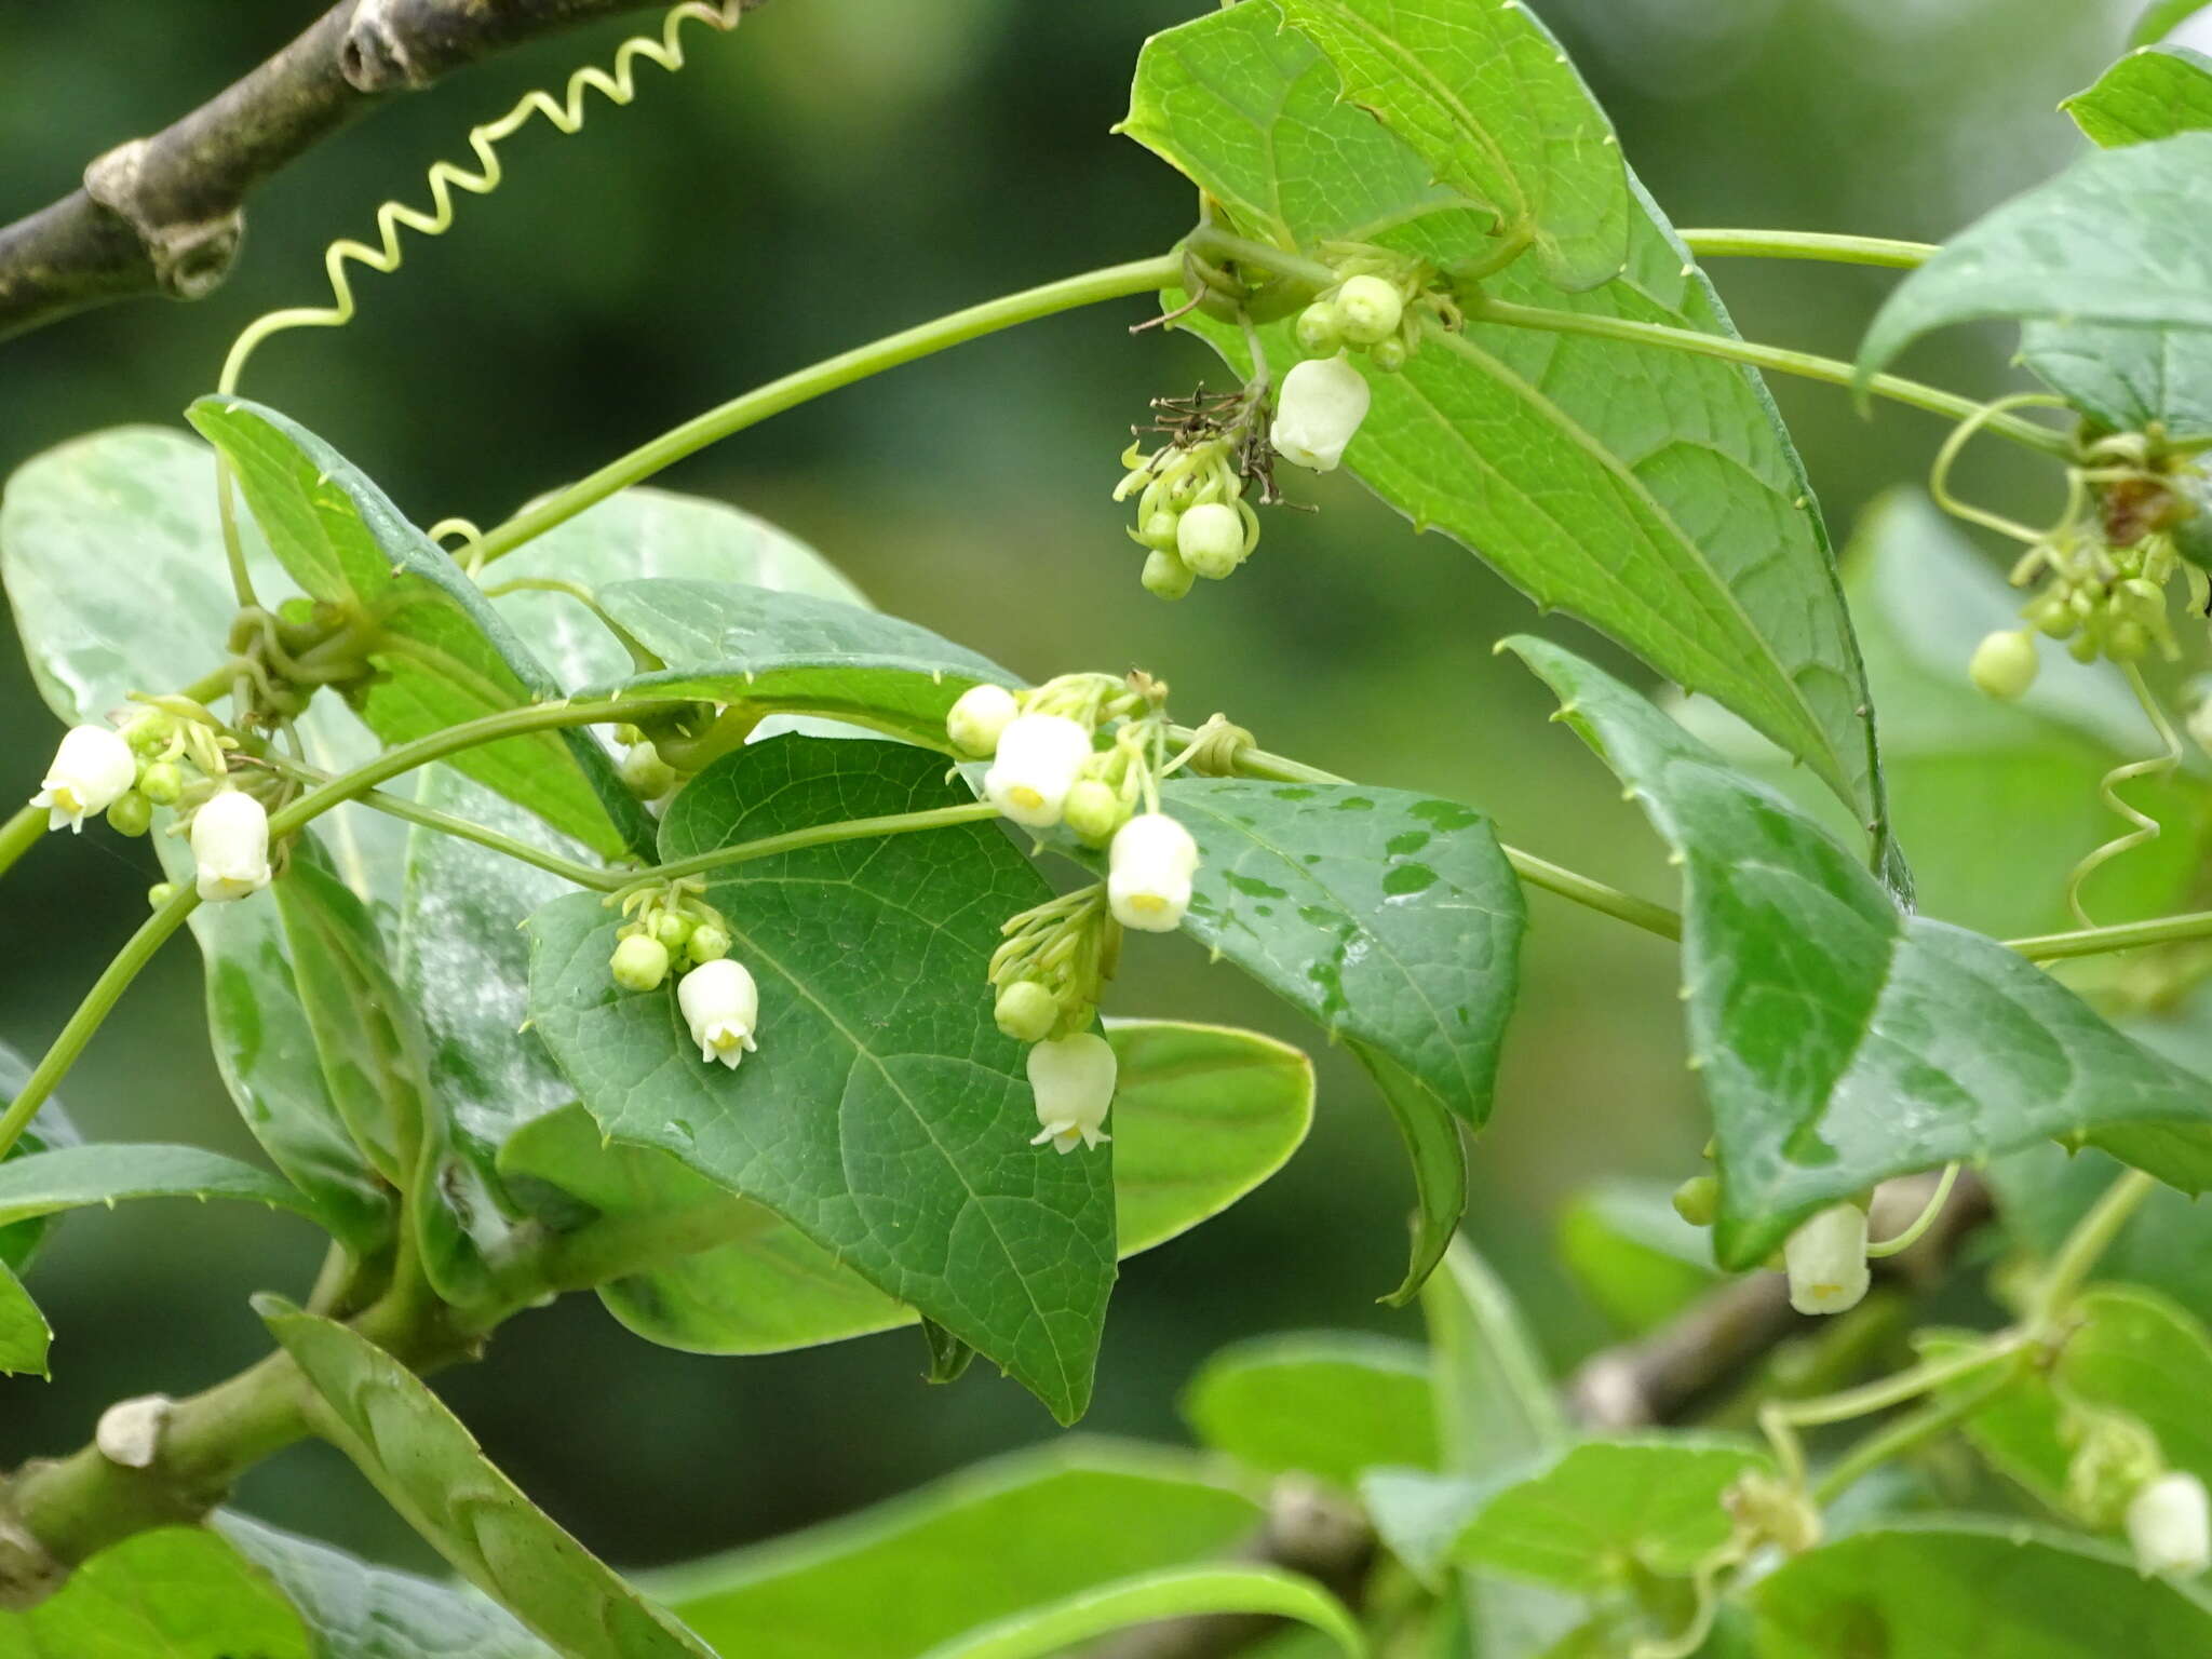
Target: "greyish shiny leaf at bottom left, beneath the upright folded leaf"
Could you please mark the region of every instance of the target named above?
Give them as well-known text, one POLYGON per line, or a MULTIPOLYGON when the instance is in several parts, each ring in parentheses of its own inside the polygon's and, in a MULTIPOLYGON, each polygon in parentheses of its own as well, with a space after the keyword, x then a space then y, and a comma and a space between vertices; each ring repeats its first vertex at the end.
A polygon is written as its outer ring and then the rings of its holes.
POLYGON ((314 1637, 314 1659, 555 1659, 473 1590, 369 1566, 246 1515, 217 1515, 215 1526, 276 1582, 314 1637))

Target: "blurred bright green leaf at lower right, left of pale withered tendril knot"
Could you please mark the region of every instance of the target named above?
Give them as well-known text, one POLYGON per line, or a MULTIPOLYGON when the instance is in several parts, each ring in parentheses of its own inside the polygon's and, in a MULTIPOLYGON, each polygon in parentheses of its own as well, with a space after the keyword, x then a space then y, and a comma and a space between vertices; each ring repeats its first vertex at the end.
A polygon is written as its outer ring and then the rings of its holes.
POLYGON ((1717 1440, 1584 1440, 1537 1473, 1495 1486, 1453 1553, 1469 1566, 1604 1590, 1639 1573, 1686 1577, 1734 1531, 1721 1495, 1767 1469, 1717 1440))

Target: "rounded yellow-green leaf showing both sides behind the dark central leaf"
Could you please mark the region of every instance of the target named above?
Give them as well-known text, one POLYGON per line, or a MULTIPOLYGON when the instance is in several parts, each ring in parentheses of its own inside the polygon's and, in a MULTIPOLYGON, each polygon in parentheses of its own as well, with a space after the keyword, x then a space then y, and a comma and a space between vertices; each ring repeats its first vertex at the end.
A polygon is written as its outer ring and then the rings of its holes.
MULTIPOLYGON (((1314 1115, 1312 1064, 1250 1031, 1133 1020, 1106 1033, 1119 1254, 1166 1243, 1274 1175, 1314 1115)), ((748 1062, 750 1064, 750 1062, 748 1062)), ((914 1321, 772 1210, 668 1152, 608 1144, 582 1106, 518 1128, 500 1152, 518 1190, 557 1192, 586 1221, 661 1230, 670 1261, 599 1287, 639 1336, 697 1354, 774 1354, 914 1321), (701 1248, 706 1245, 706 1248, 701 1248), (677 1254, 688 1250, 690 1254, 677 1254)), ((575 1243, 586 1245, 586 1239, 575 1243)))

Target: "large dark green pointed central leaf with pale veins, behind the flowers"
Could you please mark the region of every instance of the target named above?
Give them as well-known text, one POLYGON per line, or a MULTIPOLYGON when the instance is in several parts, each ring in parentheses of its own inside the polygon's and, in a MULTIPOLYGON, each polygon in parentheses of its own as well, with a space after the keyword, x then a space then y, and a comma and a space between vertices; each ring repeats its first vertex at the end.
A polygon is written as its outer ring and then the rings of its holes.
MULTIPOLYGON (((692 779, 661 854, 964 799, 927 750, 779 737, 692 779)), ((1029 1144, 1022 1051, 984 984, 1000 925, 1044 896, 982 823, 714 872, 761 987, 761 1051, 730 1071, 699 1060, 672 984, 615 991, 619 918, 577 894, 531 918, 531 1013, 608 1137, 770 1206, 1073 1420, 1113 1283, 1113 1166, 1029 1144)))

